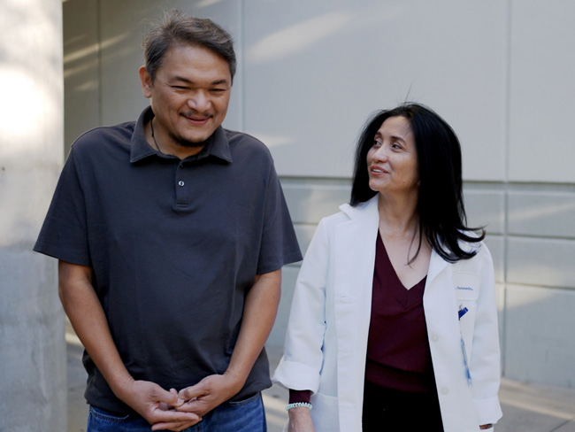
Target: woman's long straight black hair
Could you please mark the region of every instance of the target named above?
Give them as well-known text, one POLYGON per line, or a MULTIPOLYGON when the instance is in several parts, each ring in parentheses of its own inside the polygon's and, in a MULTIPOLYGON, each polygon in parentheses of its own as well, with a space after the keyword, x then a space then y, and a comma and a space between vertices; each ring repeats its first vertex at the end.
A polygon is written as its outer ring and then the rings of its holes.
POLYGON ((415 257, 425 235, 433 251, 446 261, 472 258, 477 250, 464 251, 459 241, 478 243, 485 237, 485 231, 465 226, 461 146, 449 124, 424 105, 402 104, 393 110, 375 112, 366 121, 357 143, 349 204, 355 207, 377 194, 369 187, 367 152, 372 148, 381 124, 390 117, 403 117, 410 121, 418 152, 420 236, 415 257), (466 234, 479 230, 479 236, 466 234))

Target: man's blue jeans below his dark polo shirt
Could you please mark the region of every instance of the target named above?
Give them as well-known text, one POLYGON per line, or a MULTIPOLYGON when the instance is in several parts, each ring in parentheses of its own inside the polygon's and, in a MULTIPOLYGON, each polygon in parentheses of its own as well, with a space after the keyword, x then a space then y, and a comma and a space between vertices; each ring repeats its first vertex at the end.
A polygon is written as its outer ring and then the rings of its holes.
MULTIPOLYGON (((150 432, 140 416, 116 416, 90 406, 87 432, 150 432)), ((202 421, 182 432, 266 432, 261 393, 238 402, 224 402, 203 416, 202 421)))

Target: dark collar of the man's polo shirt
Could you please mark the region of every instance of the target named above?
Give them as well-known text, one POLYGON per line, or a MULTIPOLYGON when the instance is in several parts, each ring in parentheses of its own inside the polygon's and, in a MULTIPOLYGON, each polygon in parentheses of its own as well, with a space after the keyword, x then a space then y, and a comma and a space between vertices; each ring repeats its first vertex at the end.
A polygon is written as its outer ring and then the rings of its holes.
MULTIPOLYGON (((151 106, 147 107, 135 123, 134 133, 132 134, 131 144, 132 148, 130 150, 130 162, 134 163, 143 158, 148 158, 152 155, 158 155, 158 151, 153 149, 149 143, 146 141, 146 134, 144 132, 144 126, 154 117, 154 112, 152 112, 151 106)), ((219 126, 216 131, 208 139, 205 147, 202 151, 194 156, 190 156, 187 159, 199 160, 207 157, 214 157, 222 159, 228 163, 232 162, 232 152, 230 151, 230 145, 227 142, 226 131, 223 127, 219 126)))

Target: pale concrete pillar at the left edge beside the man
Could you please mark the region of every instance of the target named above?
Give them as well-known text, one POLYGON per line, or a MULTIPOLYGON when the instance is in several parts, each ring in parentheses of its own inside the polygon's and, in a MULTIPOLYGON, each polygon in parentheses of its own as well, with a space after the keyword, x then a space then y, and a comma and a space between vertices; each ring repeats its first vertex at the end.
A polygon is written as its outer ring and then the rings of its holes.
POLYGON ((62 166, 62 0, 0 14, 0 431, 66 430, 56 260, 32 251, 62 166))

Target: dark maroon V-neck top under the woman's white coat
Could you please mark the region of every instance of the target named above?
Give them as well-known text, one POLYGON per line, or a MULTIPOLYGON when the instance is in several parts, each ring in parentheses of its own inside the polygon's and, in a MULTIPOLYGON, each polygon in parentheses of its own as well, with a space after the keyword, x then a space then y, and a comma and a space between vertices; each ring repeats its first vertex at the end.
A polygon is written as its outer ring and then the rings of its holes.
POLYGON ((405 289, 378 233, 365 380, 401 391, 434 390, 423 293, 427 276, 405 289))

